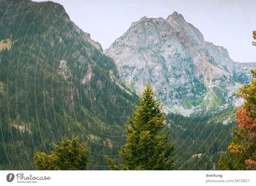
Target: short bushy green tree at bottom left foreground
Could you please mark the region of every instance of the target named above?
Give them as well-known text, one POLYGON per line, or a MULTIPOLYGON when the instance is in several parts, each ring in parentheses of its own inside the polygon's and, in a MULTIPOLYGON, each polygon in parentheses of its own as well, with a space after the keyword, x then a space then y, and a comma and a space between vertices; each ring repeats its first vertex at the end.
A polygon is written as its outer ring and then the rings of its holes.
POLYGON ((50 155, 43 152, 34 154, 36 170, 84 170, 91 162, 90 147, 87 142, 79 144, 79 137, 69 140, 66 136, 62 138, 59 145, 55 145, 50 155))

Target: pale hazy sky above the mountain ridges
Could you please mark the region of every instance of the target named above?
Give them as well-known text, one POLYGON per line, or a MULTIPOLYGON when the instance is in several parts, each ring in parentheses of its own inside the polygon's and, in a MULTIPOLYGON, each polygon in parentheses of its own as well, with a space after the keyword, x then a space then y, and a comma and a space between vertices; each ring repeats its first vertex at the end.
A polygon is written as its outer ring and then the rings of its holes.
POLYGON ((227 48, 237 62, 256 62, 252 31, 256 30, 256 0, 53 0, 103 50, 141 17, 166 19, 182 14, 204 40, 227 48), (255 20, 254 20, 255 19, 255 20))

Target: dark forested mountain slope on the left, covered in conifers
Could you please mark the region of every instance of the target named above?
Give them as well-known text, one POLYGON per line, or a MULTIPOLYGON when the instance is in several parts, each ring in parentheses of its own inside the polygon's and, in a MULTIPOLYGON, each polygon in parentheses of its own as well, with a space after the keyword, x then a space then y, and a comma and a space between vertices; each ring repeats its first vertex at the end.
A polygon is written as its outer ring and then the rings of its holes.
POLYGON ((60 4, 3 0, 0 17, 0 169, 34 169, 64 135, 89 140, 88 169, 108 169, 138 100, 113 60, 60 4))

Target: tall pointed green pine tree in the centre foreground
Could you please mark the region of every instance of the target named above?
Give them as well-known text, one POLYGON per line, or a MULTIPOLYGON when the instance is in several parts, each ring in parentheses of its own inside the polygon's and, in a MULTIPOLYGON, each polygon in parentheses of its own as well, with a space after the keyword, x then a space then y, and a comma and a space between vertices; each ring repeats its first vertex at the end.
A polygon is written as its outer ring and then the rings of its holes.
POLYGON ((163 105, 155 99, 151 85, 140 97, 140 105, 133 110, 132 117, 128 117, 125 124, 128 133, 126 145, 119 151, 123 165, 116 166, 107 157, 111 170, 172 170, 176 159, 173 150, 175 144, 169 144, 170 130, 162 133, 165 126, 163 105))

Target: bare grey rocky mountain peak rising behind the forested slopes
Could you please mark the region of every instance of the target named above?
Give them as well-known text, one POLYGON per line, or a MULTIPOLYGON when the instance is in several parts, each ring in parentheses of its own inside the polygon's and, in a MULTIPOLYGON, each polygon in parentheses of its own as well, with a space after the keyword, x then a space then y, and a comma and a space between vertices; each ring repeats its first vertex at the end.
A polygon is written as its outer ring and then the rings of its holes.
MULTIPOLYGON (((140 94, 151 83, 166 112, 217 112, 237 100, 254 63, 234 62, 227 49, 204 41, 202 33, 174 12, 143 17, 104 51, 113 57, 126 86, 140 94)), ((239 102, 241 103, 241 101, 239 102)))

